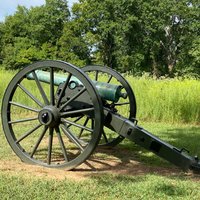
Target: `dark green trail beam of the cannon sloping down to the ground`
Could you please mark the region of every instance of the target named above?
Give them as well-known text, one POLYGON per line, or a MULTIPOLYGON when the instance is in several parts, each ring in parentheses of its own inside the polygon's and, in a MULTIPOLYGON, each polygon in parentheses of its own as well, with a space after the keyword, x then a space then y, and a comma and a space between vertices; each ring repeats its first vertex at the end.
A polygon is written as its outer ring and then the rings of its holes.
POLYGON ((143 148, 155 153, 161 158, 173 163, 184 171, 200 172, 200 162, 197 157, 191 157, 185 149, 178 149, 158 137, 152 135, 136 123, 104 109, 105 126, 119 135, 135 142, 143 148))

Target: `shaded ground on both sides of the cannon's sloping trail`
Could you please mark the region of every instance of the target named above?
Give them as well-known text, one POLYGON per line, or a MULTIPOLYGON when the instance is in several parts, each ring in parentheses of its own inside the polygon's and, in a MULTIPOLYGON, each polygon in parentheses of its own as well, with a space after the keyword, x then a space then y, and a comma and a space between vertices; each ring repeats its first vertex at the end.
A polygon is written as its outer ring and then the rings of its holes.
MULTIPOLYGON (((155 134, 162 140, 177 148, 190 150, 190 155, 200 155, 200 127, 167 128, 155 134)), ((114 148, 98 147, 87 162, 88 168, 78 171, 113 171, 115 173, 144 175, 156 173, 161 175, 180 175, 183 171, 153 153, 124 140, 114 148), (119 171, 119 172, 118 172, 119 171)))

